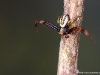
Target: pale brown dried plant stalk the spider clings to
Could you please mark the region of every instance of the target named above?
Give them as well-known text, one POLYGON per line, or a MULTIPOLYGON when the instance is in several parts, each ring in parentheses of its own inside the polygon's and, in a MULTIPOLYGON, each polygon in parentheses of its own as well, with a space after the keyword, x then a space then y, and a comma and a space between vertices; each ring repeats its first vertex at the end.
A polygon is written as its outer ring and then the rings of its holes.
MULTIPOLYGON (((76 26, 81 26, 84 0, 64 0, 64 14, 77 17, 76 26), (80 16, 80 17, 79 17, 80 16)), ((77 75, 79 33, 73 32, 68 38, 61 36, 57 75, 77 75)))

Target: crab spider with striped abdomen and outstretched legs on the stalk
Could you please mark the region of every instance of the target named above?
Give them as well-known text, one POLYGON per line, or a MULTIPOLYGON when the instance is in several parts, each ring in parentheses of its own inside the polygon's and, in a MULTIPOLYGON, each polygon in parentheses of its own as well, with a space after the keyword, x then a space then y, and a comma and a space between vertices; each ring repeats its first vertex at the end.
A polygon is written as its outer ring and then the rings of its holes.
POLYGON ((35 28, 37 29, 37 23, 45 24, 50 28, 56 30, 60 35, 67 35, 71 34, 73 31, 84 33, 92 42, 94 39, 90 36, 87 30, 75 26, 73 23, 77 20, 77 17, 70 19, 69 15, 63 14, 61 17, 58 17, 57 23, 60 24, 60 27, 55 26, 54 24, 50 23, 47 20, 37 20, 35 21, 35 28))

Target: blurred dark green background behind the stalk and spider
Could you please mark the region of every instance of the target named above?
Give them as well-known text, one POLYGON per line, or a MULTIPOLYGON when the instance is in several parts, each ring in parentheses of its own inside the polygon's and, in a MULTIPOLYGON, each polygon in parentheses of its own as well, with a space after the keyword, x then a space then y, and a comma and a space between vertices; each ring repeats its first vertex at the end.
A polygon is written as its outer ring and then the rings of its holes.
MULTIPOLYGON (((62 13, 63 0, 0 0, 0 75, 56 75, 60 35, 45 25, 37 33, 33 23, 57 25, 62 13)), ((85 1, 82 27, 95 43, 80 35, 78 69, 100 72, 100 0, 85 1)))

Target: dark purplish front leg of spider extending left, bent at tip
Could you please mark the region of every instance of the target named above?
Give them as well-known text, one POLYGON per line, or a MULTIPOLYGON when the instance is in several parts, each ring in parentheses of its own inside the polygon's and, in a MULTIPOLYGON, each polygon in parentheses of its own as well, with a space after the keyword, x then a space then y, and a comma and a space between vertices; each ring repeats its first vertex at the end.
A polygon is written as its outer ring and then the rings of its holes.
POLYGON ((48 21, 46 21, 46 20, 37 20, 37 21, 35 21, 35 28, 36 28, 36 30, 38 30, 38 29, 37 29, 37 24, 38 24, 38 23, 40 23, 40 24, 45 24, 45 25, 49 26, 50 28, 56 30, 57 32, 60 31, 60 27, 55 26, 55 25, 53 25, 52 23, 50 23, 50 22, 48 22, 48 21))

